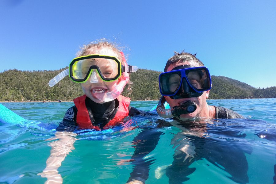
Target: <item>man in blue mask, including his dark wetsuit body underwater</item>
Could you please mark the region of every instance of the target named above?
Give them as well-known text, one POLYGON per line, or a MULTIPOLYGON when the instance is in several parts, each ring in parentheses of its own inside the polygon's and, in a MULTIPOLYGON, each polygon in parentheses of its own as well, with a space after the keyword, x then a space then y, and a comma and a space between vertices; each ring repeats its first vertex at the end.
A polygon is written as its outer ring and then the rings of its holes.
MULTIPOLYGON (((243 139, 239 131, 224 132, 224 135, 222 128, 220 130, 220 127, 210 127, 205 120, 244 117, 230 109, 207 104, 206 99, 212 87, 211 77, 208 69, 195 56, 196 54, 187 52, 175 52, 167 61, 164 73, 159 76, 159 87, 163 96, 156 111, 161 117, 174 117, 174 121, 168 123, 159 120, 155 123, 158 124, 158 128, 176 126, 185 132, 177 133, 171 140, 176 150, 173 163, 166 168, 169 183, 189 180, 188 175, 196 170, 189 166, 202 158, 217 167, 222 166, 233 181, 247 183, 248 164, 244 153, 251 153, 250 145, 243 149, 236 144, 237 141, 204 136, 210 132, 218 132, 220 136, 227 137, 231 134, 232 137, 243 139), (165 109, 165 101, 170 105, 170 109, 165 109)), ((134 167, 128 183, 145 183, 148 179, 149 168, 153 162, 148 155, 156 147, 162 134, 158 128, 146 126, 133 140, 136 144, 131 158, 134 167)))

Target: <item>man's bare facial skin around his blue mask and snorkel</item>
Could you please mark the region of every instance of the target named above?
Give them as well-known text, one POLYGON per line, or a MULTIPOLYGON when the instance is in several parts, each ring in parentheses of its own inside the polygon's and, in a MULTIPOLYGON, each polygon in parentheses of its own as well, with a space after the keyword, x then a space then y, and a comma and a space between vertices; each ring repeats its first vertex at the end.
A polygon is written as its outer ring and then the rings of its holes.
MULTIPOLYGON (((173 68, 182 66, 182 65, 191 65, 193 67, 200 67, 198 63, 195 62, 181 62, 178 61, 177 63, 170 65, 167 69, 167 71, 171 71, 173 68)), ((191 74, 192 75, 192 74, 191 74)), ((181 118, 194 118, 194 117, 207 117, 206 114, 208 111, 208 105, 206 102, 206 98, 209 97, 209 90, 205 91, 201 96, 199 97, 191 97, 191 98, 180 98, 180 99, 171 99, 169 96, 165 96, 166 101, 169 103, 170 107, 182 105, 183 103, 187 101, 195 102, 197 105, 197 109, 190 114, 182 114, 180 115, 181 118)))

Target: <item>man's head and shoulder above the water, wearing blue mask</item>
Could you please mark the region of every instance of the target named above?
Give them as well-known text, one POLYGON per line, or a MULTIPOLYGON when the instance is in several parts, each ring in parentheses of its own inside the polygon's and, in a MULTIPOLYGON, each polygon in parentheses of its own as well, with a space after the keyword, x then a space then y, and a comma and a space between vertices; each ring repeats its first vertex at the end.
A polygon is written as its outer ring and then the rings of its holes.
MULTIPOLYGON (((208 69, 195 56, 196 54, 187 52, 175 52, 159 77, 160 92, 170 107, 185 108, 185 103, 189 101, 196 105, 194 112, 178 112, 174 116, 201 119, 244 118, 230 109, 207 104, 206 99, 212 87, 211 78, 208 69)), ((160 111, 158 113, 160 116, 164 114, 160 111)))

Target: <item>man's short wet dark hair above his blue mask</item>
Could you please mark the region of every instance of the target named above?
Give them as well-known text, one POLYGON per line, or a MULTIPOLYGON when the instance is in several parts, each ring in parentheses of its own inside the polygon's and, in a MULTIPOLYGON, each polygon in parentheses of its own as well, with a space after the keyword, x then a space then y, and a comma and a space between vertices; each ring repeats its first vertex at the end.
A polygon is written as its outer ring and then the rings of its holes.
POLYGON ((184 52, 184 50, 180 53, 174 51, 174 56, 172 56, 168 61, 164 68, 164 72, 167 71, 168 67, 171 64, 177 63, 179 60, 182 62, 188 61, 188 62, 195 62, 198 63, 200 66, 204 66, 204 64, 196 58, 197 53, 191 54, 189 52, 184 52))

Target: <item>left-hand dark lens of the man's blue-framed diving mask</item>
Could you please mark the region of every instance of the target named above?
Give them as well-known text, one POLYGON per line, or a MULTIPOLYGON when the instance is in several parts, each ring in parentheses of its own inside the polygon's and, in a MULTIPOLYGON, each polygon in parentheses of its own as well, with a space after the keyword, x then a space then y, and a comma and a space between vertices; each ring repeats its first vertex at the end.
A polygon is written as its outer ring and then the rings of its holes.
POLYGON ((162 94, 170 95, 174 94, 180 85, 181 82, 181 73, 165 73, 160 75, 160 87, 162 94))

